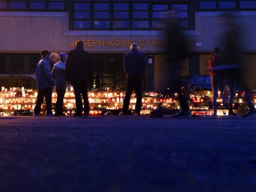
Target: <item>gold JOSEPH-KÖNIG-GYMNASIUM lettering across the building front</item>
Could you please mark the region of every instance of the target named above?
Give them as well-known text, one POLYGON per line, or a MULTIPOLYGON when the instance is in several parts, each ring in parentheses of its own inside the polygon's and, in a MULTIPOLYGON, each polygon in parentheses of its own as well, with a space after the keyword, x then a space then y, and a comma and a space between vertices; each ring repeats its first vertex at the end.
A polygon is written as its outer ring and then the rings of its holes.
MULTIPOLYGON (((80 41, 73 40, 72 44, 69 44, 69 47, 74 47, 76 45, 76 42, 80 41)), ((85 44, 85 47, 130 47, 132 43, 137 43, 140 47, 164 47, 164 40, 153 40, 153 39, 142 39, 136 42, 136 40, 120 40, 119 38, 115 38, 113 40, 96 40, 96 39, 87 39, 82 40, 85 44)), ((193 47, 194 41, 193 40, 187 40, 187 46, 193 47)))

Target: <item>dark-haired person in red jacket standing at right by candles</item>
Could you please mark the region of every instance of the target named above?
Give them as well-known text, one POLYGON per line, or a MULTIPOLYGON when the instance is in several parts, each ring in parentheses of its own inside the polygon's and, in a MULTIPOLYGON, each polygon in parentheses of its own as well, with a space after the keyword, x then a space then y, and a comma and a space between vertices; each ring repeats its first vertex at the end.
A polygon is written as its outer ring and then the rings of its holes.
POLYGON ((225 101, 224 92, 224 73, 222 70, 222 65, 224 59, 220 57, 221 49, 220 47, 215 47, 211 52, 211 57, 209 59, 208 70, 211 75, 211 88, 213 91, 213 115, 217 115, 217 97, 218 88, 220 89, 220 95, 225 101))

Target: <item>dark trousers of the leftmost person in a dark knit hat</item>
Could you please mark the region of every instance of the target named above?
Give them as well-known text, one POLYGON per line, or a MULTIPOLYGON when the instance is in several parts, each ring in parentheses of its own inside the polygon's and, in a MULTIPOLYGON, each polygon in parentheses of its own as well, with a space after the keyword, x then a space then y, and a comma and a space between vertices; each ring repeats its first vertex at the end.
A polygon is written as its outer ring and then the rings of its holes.
POLYGON ((46 113, 52 114, 52 88, 46 88, 38 90, 38 95, 36 99, 36 106, 34 108, 34 113, 40 113, 41 105, 43 103, 43 98, 45 97, 46 113))

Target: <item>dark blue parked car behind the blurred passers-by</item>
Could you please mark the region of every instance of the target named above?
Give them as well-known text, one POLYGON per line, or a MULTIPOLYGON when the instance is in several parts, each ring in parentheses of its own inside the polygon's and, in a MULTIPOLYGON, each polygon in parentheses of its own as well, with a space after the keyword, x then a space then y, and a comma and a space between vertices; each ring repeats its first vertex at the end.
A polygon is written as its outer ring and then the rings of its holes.
MULTIPOLYGON (((185 89, 198 89, 212 90, 211 89, 211 77, 209 75, 187 75, 179 78, 180 86, 185 89)), ((249 90, 246 87, 235 85, 235 90, 249 90)))

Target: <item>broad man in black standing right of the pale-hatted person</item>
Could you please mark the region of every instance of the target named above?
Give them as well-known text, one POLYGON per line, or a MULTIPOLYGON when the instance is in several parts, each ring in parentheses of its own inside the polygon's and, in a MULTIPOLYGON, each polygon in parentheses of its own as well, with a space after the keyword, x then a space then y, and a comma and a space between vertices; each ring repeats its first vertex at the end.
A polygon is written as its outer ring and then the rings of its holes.
POLYGON ((73 85, 76 99, 76 114, 73 116, 88 116, 89 114, 89 103, 88 103, 88 90, 87 85, 89 78, 93 74, 94 63, 89 52, 83 50, 83 41, 76 43, 76 49, 71 50, 66 60, 66 73, 73 85), (84 108, 82 97, 84 101, 84 108))

